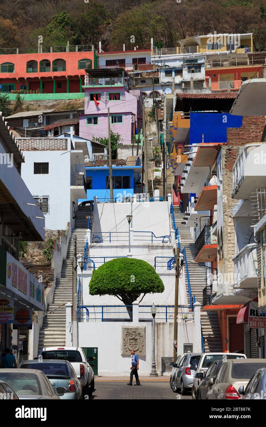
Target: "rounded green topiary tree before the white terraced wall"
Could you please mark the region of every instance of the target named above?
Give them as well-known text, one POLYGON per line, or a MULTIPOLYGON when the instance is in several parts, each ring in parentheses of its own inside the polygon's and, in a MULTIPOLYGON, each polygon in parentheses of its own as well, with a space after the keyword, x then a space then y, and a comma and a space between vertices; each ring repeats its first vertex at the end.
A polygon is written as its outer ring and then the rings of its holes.
MULTIPOLYGON (((164 292, 164 284, 155 269, 136 258, 114 258, 93 271, 90 295, 114 295, 130 306, 143 294, 164 292)), ((131 316, 131 307, 127 307, 131 316)))

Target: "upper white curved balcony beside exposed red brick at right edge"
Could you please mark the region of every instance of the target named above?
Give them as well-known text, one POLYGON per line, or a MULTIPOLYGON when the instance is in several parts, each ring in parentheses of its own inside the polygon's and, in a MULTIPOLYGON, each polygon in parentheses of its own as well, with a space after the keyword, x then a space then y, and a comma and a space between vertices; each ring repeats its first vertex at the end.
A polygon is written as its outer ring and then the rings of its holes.
POLYGON ((251 193, 265 188, 266 143, 246 145, 233 166, 233 199, 250 199, 251 193))

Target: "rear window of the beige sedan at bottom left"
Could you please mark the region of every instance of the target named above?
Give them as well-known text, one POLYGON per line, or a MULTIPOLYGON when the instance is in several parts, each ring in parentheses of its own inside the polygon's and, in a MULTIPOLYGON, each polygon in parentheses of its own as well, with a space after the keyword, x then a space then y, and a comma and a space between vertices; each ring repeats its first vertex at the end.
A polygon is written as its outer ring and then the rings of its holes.
POLYGON ((36 374, 0 371, 0 380, 8 383, 18 395, 42 395, 41 384, 36 374))

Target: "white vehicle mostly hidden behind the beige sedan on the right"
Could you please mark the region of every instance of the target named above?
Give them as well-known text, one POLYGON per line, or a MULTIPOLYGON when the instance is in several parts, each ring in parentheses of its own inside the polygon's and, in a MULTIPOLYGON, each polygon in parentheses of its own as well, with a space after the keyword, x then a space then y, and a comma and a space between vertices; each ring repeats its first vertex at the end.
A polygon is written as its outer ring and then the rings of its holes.
POLYGON ((200 378, 196 377, 198 372, 206 373, 210 365, 215 362, 215 360, 226 360, 227 359, 246 359, 246 354, 242 353, 203 353, 202 357, 199 360, 197 370, 193 378, 193 387, 191 390, 191 395, 193 399, 197 398, 199 383, 201 382, 200 378))

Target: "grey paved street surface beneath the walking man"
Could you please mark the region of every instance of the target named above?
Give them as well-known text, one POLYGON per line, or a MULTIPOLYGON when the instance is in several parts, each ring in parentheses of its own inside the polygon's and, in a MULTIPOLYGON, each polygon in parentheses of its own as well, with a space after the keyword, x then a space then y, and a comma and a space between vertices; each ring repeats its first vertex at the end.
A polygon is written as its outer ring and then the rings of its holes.
POLYGON ((126 382, 95 381, 92 399, 190 399, 191 395, 173 393, 168 381, 145 381, 141 386, 127 386, 126 382))

